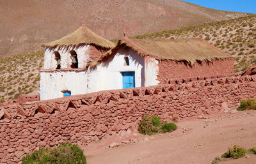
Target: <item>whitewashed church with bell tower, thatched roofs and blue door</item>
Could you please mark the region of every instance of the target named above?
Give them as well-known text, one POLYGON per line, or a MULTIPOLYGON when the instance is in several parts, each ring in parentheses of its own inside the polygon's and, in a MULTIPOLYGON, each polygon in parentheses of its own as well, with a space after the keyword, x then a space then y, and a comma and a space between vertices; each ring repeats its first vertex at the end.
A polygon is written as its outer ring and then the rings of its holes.
POLYGON ((132 40, 124 37, 115 45, 82 26, 43 46, 40 100, 155 86, 164 84, 166 78, 234 73, 232 57, 199 38, 132 40))

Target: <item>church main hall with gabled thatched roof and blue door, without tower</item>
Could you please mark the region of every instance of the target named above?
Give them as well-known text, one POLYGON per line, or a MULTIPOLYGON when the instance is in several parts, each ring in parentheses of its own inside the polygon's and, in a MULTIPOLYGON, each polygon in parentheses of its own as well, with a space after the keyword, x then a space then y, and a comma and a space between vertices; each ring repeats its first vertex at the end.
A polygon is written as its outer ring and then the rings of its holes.
MULTIPOLYGON (((234 74, 232 56, 201 38, 123 38, 118 40, 115 47, 87 66, 91 71, 89 77, 95 77, 94 73, 97 73, 97 78, 100 79, 106 75, 112 77, 104 79, 104 83, 109 84, 108 89, 123 88, 126 78, 132 87, 140 87, 234 74), (129 75, 126 75, 127 72, 129 75), (115 79, 115 83, 112 79, 115 79)), ((92 85, 94 91, 104 90, 99 80, 92 85)))

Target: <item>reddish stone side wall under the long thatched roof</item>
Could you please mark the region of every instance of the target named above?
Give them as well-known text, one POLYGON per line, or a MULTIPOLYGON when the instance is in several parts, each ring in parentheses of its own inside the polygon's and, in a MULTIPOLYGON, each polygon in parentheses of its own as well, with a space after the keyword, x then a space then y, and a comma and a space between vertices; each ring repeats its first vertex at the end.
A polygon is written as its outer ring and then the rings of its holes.
POLYGON ((175 61, 159 61, 159 73, 157 80, 160 84, 168 83, 173 80, 181 80, 192 78, 200 78, 200 80, 206 78, 216 77, 230 77, 234 76, 234 60, 233 58, 218 59, 212 62, 203 61, 201 64, 195 63, 194 66, 184 64, 184 62, 175 61))

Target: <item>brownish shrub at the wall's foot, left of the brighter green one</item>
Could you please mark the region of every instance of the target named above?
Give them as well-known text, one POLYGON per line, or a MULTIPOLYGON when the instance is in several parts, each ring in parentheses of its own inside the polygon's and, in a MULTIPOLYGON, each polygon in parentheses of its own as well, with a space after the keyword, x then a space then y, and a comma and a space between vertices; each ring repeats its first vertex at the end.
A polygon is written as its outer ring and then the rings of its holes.
POLYGON ((154 126, 152 117, 145 115, 140 121, 139 132, 143 135, 154 135, 154 133, 158 133, 159 130, 154 126))

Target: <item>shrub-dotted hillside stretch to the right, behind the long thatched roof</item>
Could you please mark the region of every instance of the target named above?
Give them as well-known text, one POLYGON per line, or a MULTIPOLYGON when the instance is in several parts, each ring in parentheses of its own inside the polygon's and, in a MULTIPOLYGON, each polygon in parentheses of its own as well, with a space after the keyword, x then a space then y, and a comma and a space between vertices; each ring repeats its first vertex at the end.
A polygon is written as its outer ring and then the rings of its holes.
POLYGON ((235 72, 256 64, 256 16, 222 20, 177 30, 134 36, 132 38, 204 38, 234 57, 235 72))

